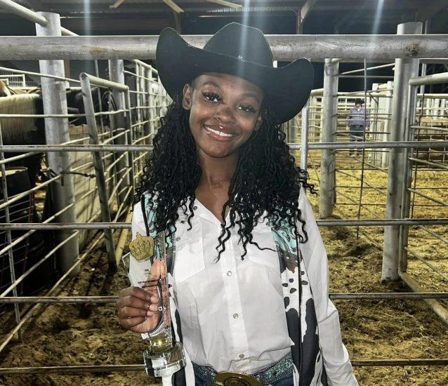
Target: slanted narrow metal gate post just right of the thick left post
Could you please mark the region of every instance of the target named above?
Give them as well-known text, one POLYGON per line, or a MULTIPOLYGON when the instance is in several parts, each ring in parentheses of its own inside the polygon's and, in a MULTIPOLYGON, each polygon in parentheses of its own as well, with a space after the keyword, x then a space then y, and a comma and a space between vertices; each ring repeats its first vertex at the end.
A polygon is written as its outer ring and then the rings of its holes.
MULTIPOLYGON (((95 109, 93 107, 93 98, 91 93, 90 81, 83 72, 79 79, 81 79, 82 99, 84 101, 84 109, 86 111, 86 121, 88 126, 88 136, 91 145, 98 145, 98 128, 96 126, 95 109)), ((95 167, 96 183, 98 185, 98 197, 100 199, 101 220, 103 222, 111 222, 109 197, 107 195, 107 187, 104 173, 103 160, 101 159, 101 152, 92 152, 93 166, 95 167)), ((109 269, 114 271, 117 269, 117 261, 115 260, 115 247, 112 229, 104 229, 105 244, 107 256, 109 259, 109 269)))

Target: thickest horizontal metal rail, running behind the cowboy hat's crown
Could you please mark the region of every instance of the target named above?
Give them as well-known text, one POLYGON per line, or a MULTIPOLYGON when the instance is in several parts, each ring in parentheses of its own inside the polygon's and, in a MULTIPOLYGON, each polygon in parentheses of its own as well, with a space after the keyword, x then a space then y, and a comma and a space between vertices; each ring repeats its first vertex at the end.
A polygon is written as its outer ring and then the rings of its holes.
MULTIPOLYGON (((184 35, 187 43, 203 47, 211 35, 184 35)), ((92 60, 155 58, 157 35, 136 36, 2 36, 4 60, 92 60), (67 47, 72 49, 67 50, 67 47)), ((448 58, 445 34, 403 35, 266 35, 274 60, 298 58, 344 60, 448 58)))

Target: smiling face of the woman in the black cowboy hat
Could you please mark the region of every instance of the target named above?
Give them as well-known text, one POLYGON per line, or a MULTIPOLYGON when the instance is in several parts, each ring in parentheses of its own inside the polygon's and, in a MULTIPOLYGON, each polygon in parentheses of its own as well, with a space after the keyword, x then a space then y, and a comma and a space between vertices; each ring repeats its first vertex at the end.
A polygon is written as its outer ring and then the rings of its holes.
POLYGON ((237 150, 261 125, 263 91, 229 74, 208 72, 185 85, 183 107, 190 110, 190 129, 201 155, 224 158, 237 150))

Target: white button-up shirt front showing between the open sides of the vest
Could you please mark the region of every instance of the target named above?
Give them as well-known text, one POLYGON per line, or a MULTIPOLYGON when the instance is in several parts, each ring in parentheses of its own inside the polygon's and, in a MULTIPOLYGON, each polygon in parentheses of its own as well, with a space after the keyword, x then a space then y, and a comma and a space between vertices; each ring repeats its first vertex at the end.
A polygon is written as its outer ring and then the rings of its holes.
MULTIPOLYGON (((254 373, 282 359, 291 340, 286 326, 279 258, 270 227, 260 222, 244 253, 233 229, 216 260, 220 221, 198 200, 188 230, 176 222, 173 290, 183 344, 193 362, 216 371, 254 373)), ((145 234, 140 204, 133 213, 133 238, 145 234)))

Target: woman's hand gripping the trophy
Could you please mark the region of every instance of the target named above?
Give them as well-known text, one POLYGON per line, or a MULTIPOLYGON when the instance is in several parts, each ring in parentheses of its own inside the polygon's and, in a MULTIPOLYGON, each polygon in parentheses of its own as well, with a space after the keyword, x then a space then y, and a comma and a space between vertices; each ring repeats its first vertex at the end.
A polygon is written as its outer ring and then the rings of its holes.
POLYGON ((159 295, 156 286, 128 287, 120 291, 117 300, 118 319, 126 330, 146 333, 154 330, 160 321, 159 295))

